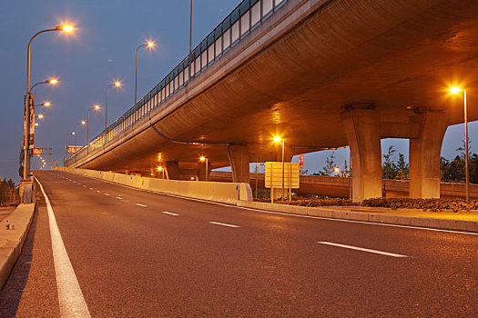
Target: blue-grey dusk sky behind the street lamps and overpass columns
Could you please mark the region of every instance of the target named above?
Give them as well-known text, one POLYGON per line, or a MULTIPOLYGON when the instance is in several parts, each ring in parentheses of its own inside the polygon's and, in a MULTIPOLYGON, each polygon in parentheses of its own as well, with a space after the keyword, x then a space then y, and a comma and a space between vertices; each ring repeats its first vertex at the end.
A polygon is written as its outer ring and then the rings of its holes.
MULTIPOLYGON (((239 5, 239 0, 195 0, 193 46, 239 5)), ((50 101, 49 109, 36 129, 36 146, 53 147, 63 163, 67 134, 86 119, 88 107, 105 105, 106 87, 115 80, 121 89, 109 90, 108 124, 134 104, 134 71, 137 45, 147 39, 156 49, 143 49, 138 59, 138 100, 188 55, 189 0, 15 0, 0 4, 0 176, 19 181, 18 156, 23 136, 26 45, 36 32, 69 23, 73 34, 47 33, 32 45, 31 83, 58 78, 56 86, 36 87, 36 104, 50 101)), ((473 107, 474 105, 469 105, 473 107)), ((90 117, 90 139, 104 129, 104 108, 90 117)), ((470 124, 472 151, 478 124, 470 124)), ((442 155, 452 158, 463 140, 463 124, 450 126, 443 141, 442 155)), ((86 143, 86 127, 78 126, 77 144, 86 143)), ((74 139, 70 138, 70 144, 74 139)), ((383 140, 382 152, 394 144, 408 158, 408 141, 383 140)), ((305 169, 317 172, 330 152, 305 156, 305 169)), ((337 163, 348 159, 348 149, 336 152, 337 163)), ((49 156, 45 156, 49 161, 49 156)), ((295 158, 294 161, 297 161, 295 158)), ((32 165, 33 168, 33 165, 32 165)))

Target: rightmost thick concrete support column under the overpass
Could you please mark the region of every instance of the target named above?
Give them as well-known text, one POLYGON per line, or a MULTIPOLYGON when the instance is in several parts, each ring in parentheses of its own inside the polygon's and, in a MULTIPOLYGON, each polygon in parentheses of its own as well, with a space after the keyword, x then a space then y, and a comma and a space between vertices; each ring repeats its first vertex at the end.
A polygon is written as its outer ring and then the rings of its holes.
POLYGON ((411 122, 420 124, 420 133, 410 139, 410 197, 439 198, 440 154, 448 116, 429 112, 412 116, 411 122))

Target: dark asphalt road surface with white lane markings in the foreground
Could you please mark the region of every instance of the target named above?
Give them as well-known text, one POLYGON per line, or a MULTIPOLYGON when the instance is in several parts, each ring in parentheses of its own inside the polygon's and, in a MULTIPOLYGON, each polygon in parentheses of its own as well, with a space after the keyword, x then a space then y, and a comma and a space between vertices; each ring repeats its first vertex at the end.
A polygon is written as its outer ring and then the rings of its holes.
POLYGON ((36 177, 52 210, 40 191, 1 317, 478 316, 476 234, 36 177))

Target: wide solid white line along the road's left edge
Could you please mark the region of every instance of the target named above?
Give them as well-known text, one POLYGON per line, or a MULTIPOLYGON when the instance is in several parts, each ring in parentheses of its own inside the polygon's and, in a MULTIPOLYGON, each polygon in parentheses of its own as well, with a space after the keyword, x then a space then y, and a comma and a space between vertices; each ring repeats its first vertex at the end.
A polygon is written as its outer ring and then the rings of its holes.
POLYGON ((38 179, 36 179, 36 181, 40 185, 40 189, 45 197, 46 210, 48 211, 60 315, 62 317, 91 317, 68 253, 66 253, 65 244, 63 243, 60 230, 56 224, 56 218, 50 200, 45 193, 43 185, 40 184, 38 179))

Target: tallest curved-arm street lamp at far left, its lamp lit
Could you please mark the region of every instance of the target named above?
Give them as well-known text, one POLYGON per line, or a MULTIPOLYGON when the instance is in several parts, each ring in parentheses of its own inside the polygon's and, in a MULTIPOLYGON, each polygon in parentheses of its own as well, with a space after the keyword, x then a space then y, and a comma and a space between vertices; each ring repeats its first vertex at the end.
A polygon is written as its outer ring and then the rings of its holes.
MULTIPOLYGON (((26 51, 26 94, 25 94, 25 118, 24 118, 24 180, 30 174, 30 100, 31 100, 31 89, 30 89, 30 49, 32 46, 33 40, 37 35, 41 35, 46 32, 53 31, 64 31, 71 32, 73 27, 71 25, 58 25, 54 29, 46 29, 33 35, 30 41, 28 42, 28 48, 26 51)), ((35 85, 34 85, 35 86, 35 85)), ((33 87, 32 87, 33 89, 33 87)), ((35 108, 35 107, 34 107, 35 108)))

